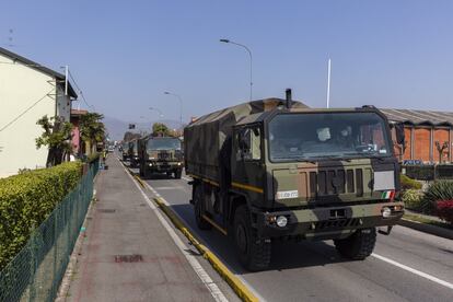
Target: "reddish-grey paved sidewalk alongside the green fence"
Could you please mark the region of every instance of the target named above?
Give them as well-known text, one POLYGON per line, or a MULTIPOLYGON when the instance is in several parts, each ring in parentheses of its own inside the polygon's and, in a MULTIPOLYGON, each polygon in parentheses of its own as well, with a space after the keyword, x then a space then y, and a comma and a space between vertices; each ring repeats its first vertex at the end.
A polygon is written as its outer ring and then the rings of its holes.
POLYGON ((107 165, 66 301, 213 301, 121 164, 107 165))

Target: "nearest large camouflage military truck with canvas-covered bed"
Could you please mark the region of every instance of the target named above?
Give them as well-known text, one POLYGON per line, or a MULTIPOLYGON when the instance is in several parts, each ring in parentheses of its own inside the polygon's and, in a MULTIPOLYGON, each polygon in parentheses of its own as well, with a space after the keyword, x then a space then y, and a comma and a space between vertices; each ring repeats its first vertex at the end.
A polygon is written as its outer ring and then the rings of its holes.
POLYGON ((391 129, 373 106, 313 109, 288 91, 205 115, 184 140, 196 223, 230 235, 248 270, 283 240, 334 240, 364 259, 376 228, 390 234, 403 216, 391 129))

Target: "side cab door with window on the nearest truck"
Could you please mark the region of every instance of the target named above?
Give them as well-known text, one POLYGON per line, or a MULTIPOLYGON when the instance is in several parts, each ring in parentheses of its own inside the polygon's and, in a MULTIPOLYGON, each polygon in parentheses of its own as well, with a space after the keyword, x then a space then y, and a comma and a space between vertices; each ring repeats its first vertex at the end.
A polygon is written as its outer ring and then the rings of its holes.
MULTIPOLYGON (((233 135, 231 185, 233 189, 263 195, 263 129, 259 125, 236 128, 233 135)), ((254 198, 255 199, 255 198, 254 198)))

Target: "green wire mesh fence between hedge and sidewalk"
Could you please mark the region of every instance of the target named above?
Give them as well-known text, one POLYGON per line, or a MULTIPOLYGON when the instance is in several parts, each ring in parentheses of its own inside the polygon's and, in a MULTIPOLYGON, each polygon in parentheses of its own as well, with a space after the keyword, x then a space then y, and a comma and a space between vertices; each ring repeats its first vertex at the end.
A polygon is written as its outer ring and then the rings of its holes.
POLYGON ((93 178, 97 170, 98 161, 95 161, 76 189, 0 271, 0 302, 55 300, 93 198, 93 178))

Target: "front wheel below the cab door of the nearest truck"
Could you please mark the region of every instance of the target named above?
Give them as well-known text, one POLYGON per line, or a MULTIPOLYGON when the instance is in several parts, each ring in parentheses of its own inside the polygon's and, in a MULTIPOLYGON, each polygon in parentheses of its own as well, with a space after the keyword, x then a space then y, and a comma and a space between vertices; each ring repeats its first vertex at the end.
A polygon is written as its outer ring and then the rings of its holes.
POLYGON ((266 269, 270 263, 270 240, 258 239, 246 206, 240 206, 234 212, 233 231, 240 263, 252 271, 266 269))

